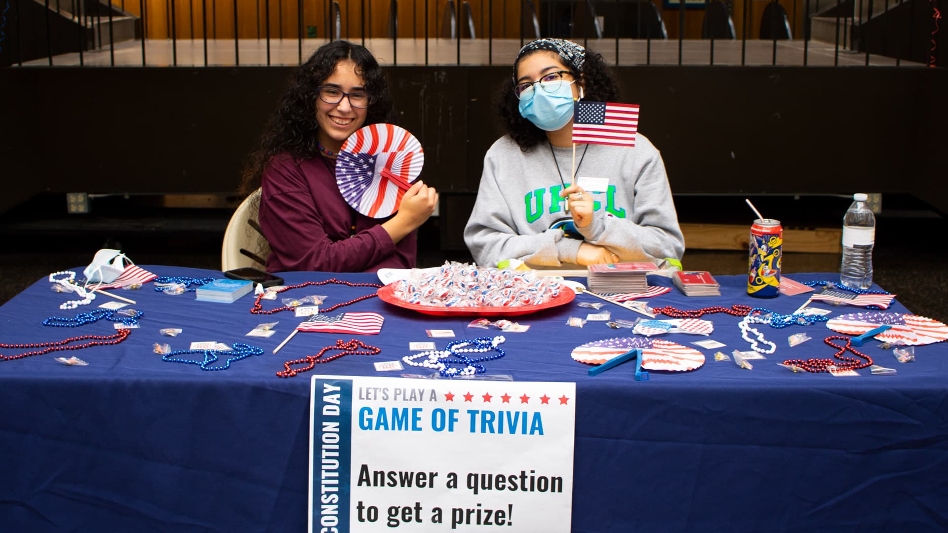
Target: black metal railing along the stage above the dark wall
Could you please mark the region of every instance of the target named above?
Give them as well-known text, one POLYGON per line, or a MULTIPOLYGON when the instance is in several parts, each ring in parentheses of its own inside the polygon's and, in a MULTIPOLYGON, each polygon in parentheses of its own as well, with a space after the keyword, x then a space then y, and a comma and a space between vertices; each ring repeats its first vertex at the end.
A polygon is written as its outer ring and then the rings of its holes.
POLYGON ((0 64, 299 64, 335 39, 368 46, 383 64, 502 64, 538 34, 581 42, 611 64, 935 66, 945 48, 938 21, 926 16, 935 8, 921 0, 401 0, 401 10, 399 0, 220 4, 9 0, 0 64), (517 28, 507 24, 516 20, 517 28))

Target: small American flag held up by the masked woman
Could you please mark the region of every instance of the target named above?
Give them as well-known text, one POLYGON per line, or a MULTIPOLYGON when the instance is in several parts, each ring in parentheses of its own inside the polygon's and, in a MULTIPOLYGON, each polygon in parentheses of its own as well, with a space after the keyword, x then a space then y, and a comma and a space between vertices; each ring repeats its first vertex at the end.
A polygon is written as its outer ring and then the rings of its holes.
POLYGON ((635 132, 639 128, 638 105, 577 101, 573 111, 573 142, 635 146, 635 132))

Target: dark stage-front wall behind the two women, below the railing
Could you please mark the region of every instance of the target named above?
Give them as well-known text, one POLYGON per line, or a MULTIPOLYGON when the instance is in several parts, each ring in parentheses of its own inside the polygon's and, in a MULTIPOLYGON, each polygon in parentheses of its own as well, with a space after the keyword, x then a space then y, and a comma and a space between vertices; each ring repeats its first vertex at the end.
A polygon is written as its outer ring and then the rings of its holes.
MULTIPOLYGON (((290 72, 8 68, 0 211, 37 193, 228 193, 290 72)), ((443 193, 474 193, 507 66, 388 68, 443 193)), ((948 211, 948 70, 635 66, 623 101, 675 193, 910 193, 948 211)))

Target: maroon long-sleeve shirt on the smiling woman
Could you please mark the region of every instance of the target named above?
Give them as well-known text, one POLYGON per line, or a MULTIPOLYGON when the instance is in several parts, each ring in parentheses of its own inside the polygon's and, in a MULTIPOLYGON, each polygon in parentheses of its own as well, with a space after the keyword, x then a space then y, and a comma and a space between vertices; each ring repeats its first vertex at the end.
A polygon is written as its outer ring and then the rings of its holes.
POLYGON ((415 233, 392 243, 381 226, 385 219, 350 207, 336 185, 335 159, 274 156, 262 187, 260 227, 270 244, 267 271, 374 272, 415 266, 415 233))

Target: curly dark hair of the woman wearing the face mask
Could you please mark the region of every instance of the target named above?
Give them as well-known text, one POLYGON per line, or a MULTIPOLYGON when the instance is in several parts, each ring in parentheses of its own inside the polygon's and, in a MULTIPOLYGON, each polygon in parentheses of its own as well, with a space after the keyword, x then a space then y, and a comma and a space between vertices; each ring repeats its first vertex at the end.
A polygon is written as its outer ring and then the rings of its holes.
MULTIPOLYGON (((517 62, 514 63, 514 72, 517 72, 517 64, 520 63, 520 60, 540 51, 549 50, 532 50, 523 54, 520 58, 517 58, 517 62)), ((579 80, 580 75, 582 76, 584 83, 583 100, 618 101, 619 83, 612 75, 609 65, 602 59, 602 54, 593 52, 587 48, 586 61, 583 64, 582 72, 578 72, 572 66, 566 64, 563 58, 559 58, 558 56, 557 58, 565 70, 569 70, 573 73, 574 79, 579 80)), ((503 133, 510 135, 520 146, 520 150, 525 152, 537 146, 539 143, 544 142, 546 140, 546 132, 539 129, 530 120, 520 116, 520 101, 517 100, 517 97, 514 95, 515 83, 516 80, 514 80, 513 76, 504 83, 501 83, 497 95, 495 96, 495 101, 501 113, 503 133)))

